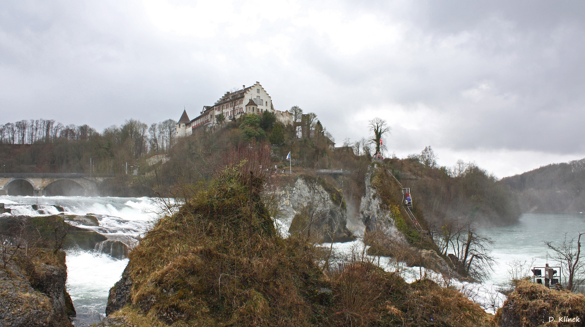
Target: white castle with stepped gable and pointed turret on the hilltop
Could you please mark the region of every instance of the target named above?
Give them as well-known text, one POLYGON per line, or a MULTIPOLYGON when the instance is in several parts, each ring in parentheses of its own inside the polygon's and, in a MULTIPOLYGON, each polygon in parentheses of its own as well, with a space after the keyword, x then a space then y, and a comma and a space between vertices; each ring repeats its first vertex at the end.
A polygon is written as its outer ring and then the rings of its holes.
POLYGON ((184 110, 177 122, 177 137, 191 135, 199 127, 215 127, 226 121, 235 121, 243 114, 262 114, 265 110, 273 113, 276 121, 284 126, 292 123, 292 113, 288 110, 284 112, 274 110, 272 99, 259 82, 247 88, 242 85, 241 90, 226 92, 213 106, 203 106, 203 111, 195 119, 190 120, 187 110, 184 110), (221 114, 223 122, 219 121, 221 114))

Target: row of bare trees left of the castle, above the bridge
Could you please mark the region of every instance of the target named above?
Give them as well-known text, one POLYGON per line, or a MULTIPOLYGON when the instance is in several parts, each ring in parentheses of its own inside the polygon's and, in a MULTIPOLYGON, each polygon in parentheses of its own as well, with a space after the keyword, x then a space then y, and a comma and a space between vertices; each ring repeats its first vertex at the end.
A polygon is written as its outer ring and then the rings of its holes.
POLYGON ((87 124, 21 120, 0 124, 0 165, 3 172, 122 173, 126 162, 137 166, 168 152, 176 141, 172 119, 150 126, 130 119, 101 133, 87 124))

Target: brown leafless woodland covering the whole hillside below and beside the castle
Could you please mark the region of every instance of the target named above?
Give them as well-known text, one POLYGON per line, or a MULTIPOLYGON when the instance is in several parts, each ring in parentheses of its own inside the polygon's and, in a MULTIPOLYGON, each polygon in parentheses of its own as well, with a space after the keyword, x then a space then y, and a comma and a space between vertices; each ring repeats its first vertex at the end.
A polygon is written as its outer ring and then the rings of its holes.
MULTIPOLYGON (((302 110, 292 107, 294 121, 302 110)), ((329 182, 343 189, 350 215, 364 194, 364 176, 375 154, 388 153, 378 142, 389 131, 377 121, 370 135, 352 142, 343 140, 331 147, 331 134, 316 114, 308 113, 308 130, 298 133, 291 124, 283 126, 274 114, 250 114, 238 121, 223 121, 220 128, 199 128, 189 137, 176 138, 174 120, 148 126, 130 119, 99 133, 87 125, 74 126, 53 120, 23 120, 0 125, 0 165, 5 172, 92 172, 114 175, 101 185, 108 196, 171 196, 184 185, 208 180, 233 149, 243 144, 270 144, 270 169, 282 172, 292 163, 292 172, 315 174, 315 169, 345 169, 350 175, 329 182), (286 160, 290 152, 291 161, 286 160), (147 159, 164 154, 168 162, 147 159), (90 166, 91 162, 91 166, 90 166), (126 169, 128 163, 128 169, 126 169)), ((370 126, 371 127, 371 126, 370 126)), ((364 131, 365 132, 365 131, 364 131)), ((448 168, 436 164, 431 147, 408 158, 386 158, 389 169, 411 187, 415 204, 429 222, 476 221, 483 225, 506 224, 517 219, 512 195, 494 176, 474 163, 458 162, 448 168)))

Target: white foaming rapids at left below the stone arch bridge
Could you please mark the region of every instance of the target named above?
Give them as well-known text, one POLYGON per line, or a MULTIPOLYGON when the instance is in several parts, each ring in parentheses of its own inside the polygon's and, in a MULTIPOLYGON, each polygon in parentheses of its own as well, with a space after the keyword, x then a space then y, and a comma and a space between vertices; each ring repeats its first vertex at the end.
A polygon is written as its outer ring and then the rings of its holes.
MULTIPOLYGON (((149 197, 80 197, 80 196, 0 196, 15 215, 95 214, 99 227, 89 228, 109 238, 136 238, 147 230, 160 211, 156 201, 149 197), (34 210, 30 204, 37 204, 34 210)), ((75 326, 91 326, 105 316, 109 289, 118 281, 128 259, 114 259, 92 251, 67 252, 67 290, 73 300, 77 318, 75 326)))

